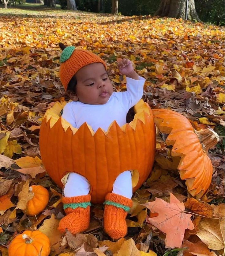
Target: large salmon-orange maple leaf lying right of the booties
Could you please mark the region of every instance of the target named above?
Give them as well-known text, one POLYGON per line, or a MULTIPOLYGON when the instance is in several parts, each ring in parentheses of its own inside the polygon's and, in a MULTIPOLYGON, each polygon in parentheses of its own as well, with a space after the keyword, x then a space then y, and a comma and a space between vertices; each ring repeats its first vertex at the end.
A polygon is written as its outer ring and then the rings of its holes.
POLYGON ((143 205, 150 209, 151 212, 159 214, 157 217, 149 218, 147 222, 166 233, 166 248, 181 247, 186 228, 194 229, 194 225, 190 220, 191 214, 184 213, 184 203, 180 203, 170 193, 170 203, 156 198, 154 202, 148 202, 143 205))

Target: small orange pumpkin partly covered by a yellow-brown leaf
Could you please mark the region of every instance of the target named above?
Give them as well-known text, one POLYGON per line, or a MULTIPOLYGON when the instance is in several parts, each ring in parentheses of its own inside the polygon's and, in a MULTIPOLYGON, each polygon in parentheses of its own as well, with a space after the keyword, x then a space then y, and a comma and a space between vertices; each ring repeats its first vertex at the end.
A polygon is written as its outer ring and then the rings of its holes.
POLYGON ((23 212, 28 216, 35 216, 42 212, 48 204, 49 193, 46 188, 40 185, 32 185, 29 191, 34 193, 34 196, 27 203, 27 208, 23 212))

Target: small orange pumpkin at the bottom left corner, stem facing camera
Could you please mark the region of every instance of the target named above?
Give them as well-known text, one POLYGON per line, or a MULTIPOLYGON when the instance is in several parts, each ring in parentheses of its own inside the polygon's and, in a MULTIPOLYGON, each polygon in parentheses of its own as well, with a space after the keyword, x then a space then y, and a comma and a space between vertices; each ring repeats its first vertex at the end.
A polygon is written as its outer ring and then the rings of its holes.
POLYGON ((9 245, 9 256, 48 256, 50 251, 49 238, 39 230, 24 231, 9 245))

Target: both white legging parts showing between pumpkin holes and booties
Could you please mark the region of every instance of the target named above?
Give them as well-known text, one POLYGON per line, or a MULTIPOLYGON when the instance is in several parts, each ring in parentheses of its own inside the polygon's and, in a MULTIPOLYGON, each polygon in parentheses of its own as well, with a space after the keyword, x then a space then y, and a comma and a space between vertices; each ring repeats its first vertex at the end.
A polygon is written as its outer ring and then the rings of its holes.
MULTIPOLYGON (((90 183, 84 176, 74 172, 69 174, 64 187, 64 195, 66 197, 88 195, 89 191, 90 183)), ((112 193, 122 195, 127 198, 132 197, 132 180, 130 171, 124 171, 118 175, 113 184, 112 193)))

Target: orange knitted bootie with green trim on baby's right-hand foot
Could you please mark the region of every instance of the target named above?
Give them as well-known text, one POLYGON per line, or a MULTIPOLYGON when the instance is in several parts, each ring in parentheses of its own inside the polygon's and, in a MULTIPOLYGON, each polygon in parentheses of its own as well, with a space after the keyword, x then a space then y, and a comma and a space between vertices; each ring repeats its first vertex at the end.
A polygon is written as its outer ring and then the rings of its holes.
POLYGON ((104 230, 113 239, 124 237, 127 233, 126 215, 133 202, 131 199, 108 193, 104 202, 104 230))

